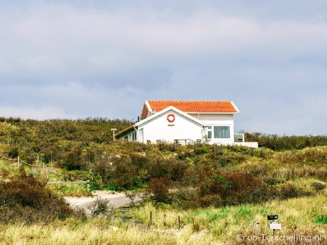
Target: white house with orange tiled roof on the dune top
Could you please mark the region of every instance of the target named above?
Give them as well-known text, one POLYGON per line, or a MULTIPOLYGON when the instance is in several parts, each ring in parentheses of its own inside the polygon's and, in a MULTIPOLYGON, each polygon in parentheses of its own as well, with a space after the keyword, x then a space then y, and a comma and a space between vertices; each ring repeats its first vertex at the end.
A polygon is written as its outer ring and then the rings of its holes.
POLYGON ((234 114, 240 111, 232 101, 145 101, 136 124, 118 132, 116 138, 257 148, 258 142, 244 142, 243 134, 234 134, 234 114))

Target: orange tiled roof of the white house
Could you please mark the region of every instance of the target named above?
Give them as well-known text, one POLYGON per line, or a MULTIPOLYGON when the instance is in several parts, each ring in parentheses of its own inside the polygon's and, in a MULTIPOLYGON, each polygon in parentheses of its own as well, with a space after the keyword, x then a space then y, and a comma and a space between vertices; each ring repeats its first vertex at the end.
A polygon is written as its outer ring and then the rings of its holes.
POLYGON ((237 113, 231 101, 148 101, 152 111, 161 111, 173 106, 183 112, 237 113))

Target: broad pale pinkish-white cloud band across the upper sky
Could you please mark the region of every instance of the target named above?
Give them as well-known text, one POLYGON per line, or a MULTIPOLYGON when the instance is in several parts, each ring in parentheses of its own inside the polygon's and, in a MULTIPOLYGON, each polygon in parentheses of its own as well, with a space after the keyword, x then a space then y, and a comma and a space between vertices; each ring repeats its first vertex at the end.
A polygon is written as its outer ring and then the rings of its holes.
POLYGON ((263 22, 217 10, 180 16, 153 9, 103 11, 44 4, 16 10, 10 19, 8 15, 0 17, 6 23, 0 27, 6 37, 0 40, 7 63, 3 72, 123 71, 226 52, 233 56, 252 51, 265 58, 326 53, 325 23, 263 22))

